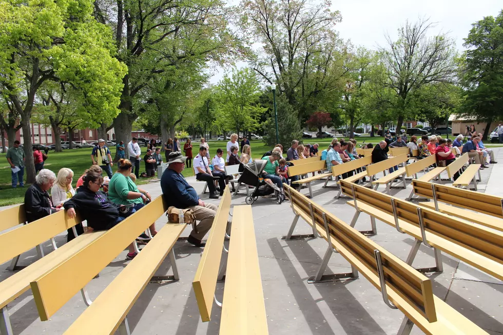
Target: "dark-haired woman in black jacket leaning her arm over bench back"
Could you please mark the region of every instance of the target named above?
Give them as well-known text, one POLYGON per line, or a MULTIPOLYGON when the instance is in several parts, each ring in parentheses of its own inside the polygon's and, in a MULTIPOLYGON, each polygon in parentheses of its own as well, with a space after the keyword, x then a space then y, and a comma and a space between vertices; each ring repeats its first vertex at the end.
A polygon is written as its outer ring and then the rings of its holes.
MULTIPOLYGON (((79 187, 75 196, 63 205, 70 218, 75 218, 75 214, 79 213, 80 218, 86 220, 87 226, 92 230, 108 230, 134 212, 134 210, 122 211, 121 209, 125 209, 125 206, 110 202, 105 192, 100 190, 102 183, 101 173, 88 172, 84 176, 84 185, 79 187)), ((135 256, 136 252, 131 243, 126 257, 133 259, 135 256)))

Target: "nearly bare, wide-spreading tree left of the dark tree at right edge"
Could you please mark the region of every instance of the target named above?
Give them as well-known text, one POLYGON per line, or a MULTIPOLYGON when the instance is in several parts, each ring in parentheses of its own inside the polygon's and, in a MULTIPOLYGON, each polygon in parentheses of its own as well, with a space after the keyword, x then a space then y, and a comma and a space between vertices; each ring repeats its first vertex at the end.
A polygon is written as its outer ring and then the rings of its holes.
POLYGON ((381 48, 383 64, 388 74, 388 85, 396 94, 395 112, 397 131, 405 117, 412 117, 410 93, 423 85, 452 83, 456 74, 454 40, 447 34, 428 36, 435 25, 429 19, 409 21, 398 29, 398 39, 386 35, 388 46, 381 48))

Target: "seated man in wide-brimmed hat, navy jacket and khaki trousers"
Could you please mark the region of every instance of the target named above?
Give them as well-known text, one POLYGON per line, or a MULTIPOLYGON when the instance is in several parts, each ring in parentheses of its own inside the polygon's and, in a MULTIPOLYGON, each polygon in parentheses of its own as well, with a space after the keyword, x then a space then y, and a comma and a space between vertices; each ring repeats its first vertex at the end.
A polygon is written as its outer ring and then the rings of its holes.
MULTIPOLYGON (((206 158, 206 147, 204 151, 199 149, 199 155, 206 158)), ((198 196, 194 187, 190 186, 182 175, 185 168, 187 157, 182 156, 180 152, 172 152, 168 156, 166 171, 161 177, 161 189, 167 206, 175 206, 179 209, 190 208, 196 215, 196 220, 200 221, 197 225, 197 231, 192 230, 187 242, 197 247, 204 247, 206 243, 202 242, 204 235, 211 229, 213 219, 217 213, 217 206, 204 203, 198 196)), ((194 161, 196 162, 196 161, 194 161)), ((212 185, 213 183, 208 183, 212 185)), ((227 224, 227 228, 230 224, 227 224)))

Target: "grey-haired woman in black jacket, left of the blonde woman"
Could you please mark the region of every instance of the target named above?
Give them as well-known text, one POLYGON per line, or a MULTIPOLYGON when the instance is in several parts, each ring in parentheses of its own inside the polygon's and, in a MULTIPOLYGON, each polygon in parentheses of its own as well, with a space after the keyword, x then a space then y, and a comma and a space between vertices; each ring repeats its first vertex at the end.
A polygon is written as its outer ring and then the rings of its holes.
POLYGON ((33 222, 61 210, 61 205, 54 206, 52 204, 51 197, 47 192, 55 180, 56 175, 54 172, 42 169, 36 175, 35 184, 26 190, 25 211, 28 222, 33 222))

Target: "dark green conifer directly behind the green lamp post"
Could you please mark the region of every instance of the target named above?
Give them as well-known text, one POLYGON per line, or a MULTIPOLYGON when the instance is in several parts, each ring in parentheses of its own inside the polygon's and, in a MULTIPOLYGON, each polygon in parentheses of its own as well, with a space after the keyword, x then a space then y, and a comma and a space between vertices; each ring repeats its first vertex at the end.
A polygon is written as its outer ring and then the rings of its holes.
MULTIPOLYGON (((288 103, 288 100, 284 94, 276 97, 276 106, 278 110, 279 142, 283 145, 283 147, 288 148, 292 140, 302 139, 302 130, 300 127, 299 116, 292 105, 288 103)), ((264 132, 264 141, 267 145, 277 144, 274 112, 264 123, 264 132)))

